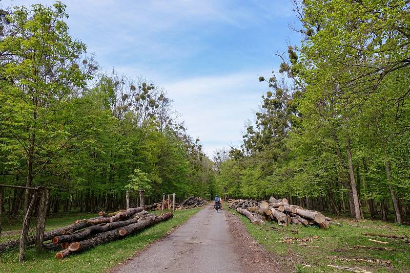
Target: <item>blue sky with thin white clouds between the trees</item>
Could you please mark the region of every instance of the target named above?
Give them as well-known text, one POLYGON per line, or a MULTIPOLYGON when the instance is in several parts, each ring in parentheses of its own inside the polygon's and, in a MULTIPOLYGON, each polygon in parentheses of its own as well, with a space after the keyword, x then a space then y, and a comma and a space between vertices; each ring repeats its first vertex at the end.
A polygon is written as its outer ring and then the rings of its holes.
MULTIPOLYGON (((0 0, 1 1, 1 0, 0 0)), ((95 52, 101 71, 142 76, 168 90, 203 150, 241 144, 268 86, 300 36, 291 0, 66 0, 70 35, 95 52)), ((54 1, 3 0, 3 7, 54 1)))

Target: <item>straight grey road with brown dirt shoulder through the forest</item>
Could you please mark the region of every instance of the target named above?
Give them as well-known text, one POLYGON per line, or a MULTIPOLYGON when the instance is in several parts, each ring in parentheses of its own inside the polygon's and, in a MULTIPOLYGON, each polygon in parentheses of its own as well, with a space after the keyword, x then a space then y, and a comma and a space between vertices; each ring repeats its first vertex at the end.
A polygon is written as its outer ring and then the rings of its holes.
MULTIPOLYGON (((209 205, 171 235, 155 242, 112 272, 255 272, 261 269, 280 272, 277 267, 266 268, 263 265, 260 268, 264 261, 258 259, 263 259, 260 255, 263 249, 255 249, 255 243, 243 238, 234 238, 230 217, 236 216, 224 210, 216 213, 213 205, 209 205), (251 258, 256 260, 245 259, 248 256, 245 252, 250 251, 251 258)), ((249 239, 250 236, 244 232, 246 234, 242 236, 249 239)))

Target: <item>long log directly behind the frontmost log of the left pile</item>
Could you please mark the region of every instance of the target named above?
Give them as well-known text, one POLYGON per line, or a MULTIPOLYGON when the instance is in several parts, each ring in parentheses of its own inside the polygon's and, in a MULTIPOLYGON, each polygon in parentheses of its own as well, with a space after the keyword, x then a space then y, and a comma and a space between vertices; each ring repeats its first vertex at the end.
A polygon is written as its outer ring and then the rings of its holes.
POLYGON ((130 220, 125 220, 125 221, 106 223, 105 225, 92 225, 88 227, 86 230, 84 230, 83 232, 74 233, 70 235, 56 236, 53 238, 52 242, 57 244, 57 243, 64 243, 64 242, 82 241, 82 240, 85 240, 90 235, 115 230, 115 229, 118 229, 119 227, 136 223, 138 221, 141 221, 142 219, 146 219, 147 217, 152 218, 153 216, 156 216, 156 214, 151 213, 151 214, 147 214, 147 216, 143 218, 137 217, 137 218, 132 218, 130 220))

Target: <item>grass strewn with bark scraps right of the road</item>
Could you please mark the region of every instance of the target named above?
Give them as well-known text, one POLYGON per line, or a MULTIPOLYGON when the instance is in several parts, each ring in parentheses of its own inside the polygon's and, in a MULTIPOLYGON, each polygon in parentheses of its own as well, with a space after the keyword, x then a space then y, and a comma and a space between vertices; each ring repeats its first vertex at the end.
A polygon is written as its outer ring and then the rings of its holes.
MULTIPOLYGON (((297 272, 342 272, 327 265, 348 266, 374 272, 410 272, 410 244, 403 239, 365 236, 363 233, 400 235, 410 239, 410 227, 379 220, 356 221, 351 218, 333 218, 343 226, 331 225, 327 230, 316 226, 289 225, 279 226, 267 221, 265 226, 252 224, 248 218, 237 214, 247 227, 248 232, 265 249, 277 255, 295 257, 297 272), (275 229, 280 229, 277 231, 275 229), (314 236, 318 236, 317 239, 314 236), (290 238, 295 239, 290 239, 290 238), (288 240, 286 240, 288 238, 288 240), (307 242, 301 239, 309 238, 307 242), (298 241, 299 239, 299 241, 298 241), (369 239, 388 242, 379 244, 369 239), (303 246, 301 244, 307 244, 303 246), (383 246, 396 251, 355 249, 354 245, 383 246), (391 266, 380 263, 358 262, 353 259, 378 259, 391 262, 391 266)), ((332 215, 329 215, 332 217, 332 215)))

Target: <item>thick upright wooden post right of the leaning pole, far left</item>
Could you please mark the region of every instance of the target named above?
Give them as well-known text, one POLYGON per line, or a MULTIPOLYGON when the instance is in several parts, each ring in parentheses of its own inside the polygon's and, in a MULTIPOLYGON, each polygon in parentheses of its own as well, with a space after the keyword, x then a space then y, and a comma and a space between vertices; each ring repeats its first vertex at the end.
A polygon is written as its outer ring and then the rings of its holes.
POLYGON ((35 246, 37 248, 38 254, 42 253, 43 250, 43 239, 44 239, 44 229, 46 224, 46 215, 49 201, 49 191, 47 189, 39 189, 38 197, 39 204, 37 209, 37 223, 36 223, 36 232, 35 232, 35 246))

